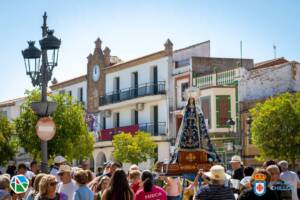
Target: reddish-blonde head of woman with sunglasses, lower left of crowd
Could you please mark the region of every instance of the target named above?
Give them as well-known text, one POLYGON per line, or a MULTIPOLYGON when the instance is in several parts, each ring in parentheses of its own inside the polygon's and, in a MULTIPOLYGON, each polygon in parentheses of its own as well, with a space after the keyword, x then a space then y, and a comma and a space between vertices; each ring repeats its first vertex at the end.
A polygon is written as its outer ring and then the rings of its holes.
POLYGON ((53 195, 56 191, 57 181, 53 175, 45 175, 39 183, 39 193, 42 196, 53 195))

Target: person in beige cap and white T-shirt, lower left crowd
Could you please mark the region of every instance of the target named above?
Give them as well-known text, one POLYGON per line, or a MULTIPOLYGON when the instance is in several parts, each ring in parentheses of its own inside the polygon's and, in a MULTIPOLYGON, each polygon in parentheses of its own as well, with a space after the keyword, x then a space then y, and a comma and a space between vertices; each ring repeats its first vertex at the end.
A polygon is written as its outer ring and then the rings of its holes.
POLYGON ((78 189, 76 182, 71 177, 72 168, 69 165, 60 165, 58 175, 61 182, 58 183, 58 193, 64 193, 68 199, 72 200, 74 192, 78 189))

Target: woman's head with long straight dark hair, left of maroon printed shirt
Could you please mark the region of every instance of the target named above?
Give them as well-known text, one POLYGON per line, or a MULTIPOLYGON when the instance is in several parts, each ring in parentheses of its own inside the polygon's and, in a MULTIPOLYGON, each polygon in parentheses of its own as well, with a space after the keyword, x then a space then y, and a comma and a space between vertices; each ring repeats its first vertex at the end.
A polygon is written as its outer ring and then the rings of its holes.
POLYGON ((133 198, 133 193, 129 187, 126 173, 122 169, 116 169, 116 171, 112 174, 110 179, 110 185, 108 188, 109 198, 111 195, 114 195, 115 199, 123 199, 124 194, 130 194, 131 198, 133 198))

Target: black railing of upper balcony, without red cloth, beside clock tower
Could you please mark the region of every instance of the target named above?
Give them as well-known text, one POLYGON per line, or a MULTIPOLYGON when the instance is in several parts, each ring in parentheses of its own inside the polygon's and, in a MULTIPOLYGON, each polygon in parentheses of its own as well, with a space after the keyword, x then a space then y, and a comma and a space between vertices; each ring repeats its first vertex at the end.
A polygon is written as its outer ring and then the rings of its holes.
POLYGON ((111 92, 105 96, 100 97, 99 105, 104 106, 107 104, 118 103, 137 97, 144 97, 157 94, 166 94, 165 81, 157 83, 145 83, 133 88, 126 88, 118 92, 111 92))

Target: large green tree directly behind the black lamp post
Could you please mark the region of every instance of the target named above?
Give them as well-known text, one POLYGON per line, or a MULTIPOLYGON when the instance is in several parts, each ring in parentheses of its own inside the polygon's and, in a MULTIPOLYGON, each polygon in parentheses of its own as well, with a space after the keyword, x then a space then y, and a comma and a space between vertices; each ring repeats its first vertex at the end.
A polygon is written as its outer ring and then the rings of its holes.
MULTIPOLYGON (((40 140, 35 130, 38 116, 32 111, 30 103, 39 101, 40 92, 27 91, 27 94, 28 97, 21 106, 22 112, 15 120, 15 125, 20 145, 36 159, 41 156, 40 140)), ((68 95, 52 94, 49 96, 57 103, 57 109, 51 116, 56 124, 56 133, 54 138, 48 141, 48 157, 64 155, 69 160, 90 158, 94 138, 85 124, 82 105, 74 102, 68 95)))

